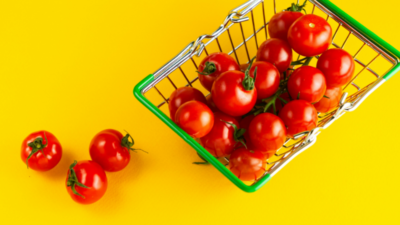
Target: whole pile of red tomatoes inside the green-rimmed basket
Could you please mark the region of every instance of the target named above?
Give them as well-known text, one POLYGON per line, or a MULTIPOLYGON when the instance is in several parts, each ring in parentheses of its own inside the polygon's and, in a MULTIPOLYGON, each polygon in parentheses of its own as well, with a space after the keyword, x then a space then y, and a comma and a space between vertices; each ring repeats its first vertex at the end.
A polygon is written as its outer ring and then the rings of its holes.
POLYGON ((271 18, 271 38, 249 64, 220 52, 204 58, 197 72, 207 97, 193 87, 170 97, 171 119, 213 156, 229 157, 230 170, 243 181, 259 179, 287 138, 314 129, 318 112, 336 108, 341 86, 353 76, 353 58, 328 50, 332 28, 304 15, 305 3, 271 18), (293 51, 304 58, 293 61, 293 51), (318 55, 317 66, 309 66, 318 55))

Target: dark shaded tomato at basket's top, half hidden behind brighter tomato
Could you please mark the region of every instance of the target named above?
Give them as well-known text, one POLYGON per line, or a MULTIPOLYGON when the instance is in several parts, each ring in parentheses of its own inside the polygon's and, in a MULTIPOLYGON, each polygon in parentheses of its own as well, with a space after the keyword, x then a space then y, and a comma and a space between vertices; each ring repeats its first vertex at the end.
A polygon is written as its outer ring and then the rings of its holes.
POLYGON ((283 11, 275 14, 268 24, 268 33, 270 37, 287 41, 290 26, 302 16, 304 16, 303 13, 292 11, 283 11))

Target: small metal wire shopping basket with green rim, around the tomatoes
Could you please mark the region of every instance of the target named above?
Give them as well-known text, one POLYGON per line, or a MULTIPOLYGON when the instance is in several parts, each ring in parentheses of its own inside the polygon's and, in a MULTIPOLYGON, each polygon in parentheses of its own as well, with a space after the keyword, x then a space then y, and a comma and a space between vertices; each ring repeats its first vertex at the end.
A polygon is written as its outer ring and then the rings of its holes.
MULTIPOLYGON (((293 1, 293 0, 291 0, 293 1)), ((196 140, 180 129, 168 115, 168 96, 178 87, 193 86, 209 94, 197 82, 197 65, 212 52, 233 54, 239 64, 250 61, 258 46, 268 39, 268 21, 277 9, 284 9, 289 0, 251 0, 232 10, 225 21, 211 35, 202 35, 190 43, 175 58, 154 74, 148 75, 134 88, 135 97, 173 131, 189 143, 203 158, 246 192, 254 192, 302 151, 312 146, 321 130, 329 127, 346 112, 355 110, 373 91, 399 69, 400 52, 354 20, 329 0, 309 0, 308 13, 326 18, 334 30, 330 48, 342 48, 353 55, 356 70, 352 80, 344 86, 340 105, 319 114, 318 126, 288 139, 275 156, 268 159, 264 175, 252 183, 239 180, 218 159, 207 152, 196 140), (246 22, 247 21, 247 22, 246 22)), ((300 56, 294 53, 294 60, 300 56)), ((318 56, 310 65, 315 65, 318 56)), ((226 159, 228 161, 228 159, 226 159)))

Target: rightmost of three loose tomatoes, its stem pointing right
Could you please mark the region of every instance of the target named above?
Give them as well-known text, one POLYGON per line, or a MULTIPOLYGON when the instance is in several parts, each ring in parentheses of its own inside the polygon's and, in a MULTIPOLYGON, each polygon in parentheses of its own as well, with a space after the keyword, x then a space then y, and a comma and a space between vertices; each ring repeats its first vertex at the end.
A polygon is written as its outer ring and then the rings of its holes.
POLYGON ((120 171, 131 159, 130 150, 135 150, 132 148, 133 144, 133 138, 129 134, 123 136, 116 130, 103 130, 90 142, 90 157, 105 171, 120 171))

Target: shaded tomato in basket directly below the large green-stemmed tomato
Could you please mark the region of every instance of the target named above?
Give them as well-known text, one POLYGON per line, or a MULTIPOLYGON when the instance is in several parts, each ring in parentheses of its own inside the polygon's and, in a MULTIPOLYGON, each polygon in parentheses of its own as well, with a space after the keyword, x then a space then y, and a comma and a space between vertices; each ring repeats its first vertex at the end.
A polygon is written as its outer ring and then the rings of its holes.
POLYGON ((200 144, 217 158, 230 155, 236 145, 234 139, 235 129, 222 120, 235 124, 239 128, 239 123, 235 118, 216 112, 214 113, 212 130, 206 136, 200 138, 200 144))

